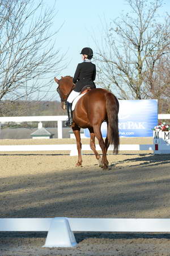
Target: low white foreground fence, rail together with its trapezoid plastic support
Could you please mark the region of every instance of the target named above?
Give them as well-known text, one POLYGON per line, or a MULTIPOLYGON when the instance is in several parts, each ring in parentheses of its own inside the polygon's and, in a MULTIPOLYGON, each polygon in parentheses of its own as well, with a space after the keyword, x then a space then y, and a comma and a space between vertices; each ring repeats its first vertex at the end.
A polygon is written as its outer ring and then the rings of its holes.
POLYGON ((0 232, 48 232, 44 247, 73 247, 73 232, 170 232, 169 218, 1 218, 0 232))

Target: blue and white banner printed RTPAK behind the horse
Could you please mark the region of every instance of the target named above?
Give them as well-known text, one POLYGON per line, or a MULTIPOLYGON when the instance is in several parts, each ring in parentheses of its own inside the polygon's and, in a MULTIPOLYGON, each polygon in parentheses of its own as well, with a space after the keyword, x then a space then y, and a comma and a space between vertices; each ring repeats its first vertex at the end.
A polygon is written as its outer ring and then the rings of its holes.
MULTIPOLYGON (((120 137, 152 137, 152 129, 158 125, 158 100, 126 100, 119 104, 120 137)), ((106 122, 101 125, 101 133, 106 137, 106 122)), ((84 135, 90 137, 88 129, 84 129, 84 135)))

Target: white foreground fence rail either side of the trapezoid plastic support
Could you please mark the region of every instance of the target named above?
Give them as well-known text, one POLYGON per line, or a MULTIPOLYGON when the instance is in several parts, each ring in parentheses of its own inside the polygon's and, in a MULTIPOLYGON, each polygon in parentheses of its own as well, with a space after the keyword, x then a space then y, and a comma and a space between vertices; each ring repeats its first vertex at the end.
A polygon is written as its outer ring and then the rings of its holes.
MULTIPOLYGON (((170 232, 170 218, 67 218, 74 232, 170 232)), ((53 218, 0 218, 0 232, 49 231, 53 218)))

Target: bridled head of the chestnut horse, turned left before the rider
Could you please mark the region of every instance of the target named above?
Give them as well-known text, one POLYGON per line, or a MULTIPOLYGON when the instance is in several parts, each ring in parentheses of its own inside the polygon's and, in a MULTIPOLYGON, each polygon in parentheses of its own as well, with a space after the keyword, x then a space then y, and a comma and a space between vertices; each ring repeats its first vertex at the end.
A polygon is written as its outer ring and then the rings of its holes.
POLYGON ((65 110, 67 98, 71 90, 73 90, 74 88, 73 77, 65 76, 61 77, 61 79, 57 79, 56 77, 54 77, 54 80, 58 84, 57 92, 59 94, 59 97, 61 98, 61 108, 65 110))

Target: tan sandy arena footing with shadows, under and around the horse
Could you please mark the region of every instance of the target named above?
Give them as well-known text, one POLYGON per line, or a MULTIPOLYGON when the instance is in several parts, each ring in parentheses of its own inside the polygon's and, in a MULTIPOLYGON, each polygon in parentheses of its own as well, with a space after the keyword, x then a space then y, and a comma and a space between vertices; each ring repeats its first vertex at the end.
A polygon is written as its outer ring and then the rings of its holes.
MULTIPOLYGON (((0 140, 0 144, 69 144, 74 139, 0 140)), ((84 139, 84 144, 89 140, 84 139)), ((151 144, 152 138, 121 139, 151 144)), ((0 152, 1 218, 169 218, 170 155, 108 154, 109 170, 92 152, 83 167, 68 151, 0 152)), ((46 232, 1 232, 0 255, 169 255, 167 233, 75 233, 78 246, 42 248, 46 232)))

